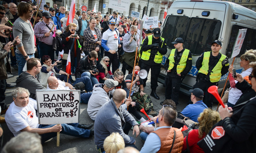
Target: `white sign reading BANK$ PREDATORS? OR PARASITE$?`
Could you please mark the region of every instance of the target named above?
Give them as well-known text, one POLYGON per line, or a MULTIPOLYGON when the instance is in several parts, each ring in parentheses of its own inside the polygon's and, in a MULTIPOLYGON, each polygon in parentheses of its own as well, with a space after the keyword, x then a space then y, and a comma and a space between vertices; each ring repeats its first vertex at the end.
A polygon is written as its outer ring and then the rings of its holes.
POLYGON ((79 123, 80 90, 36 90, 39 124, 79 123))

